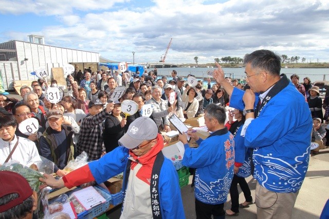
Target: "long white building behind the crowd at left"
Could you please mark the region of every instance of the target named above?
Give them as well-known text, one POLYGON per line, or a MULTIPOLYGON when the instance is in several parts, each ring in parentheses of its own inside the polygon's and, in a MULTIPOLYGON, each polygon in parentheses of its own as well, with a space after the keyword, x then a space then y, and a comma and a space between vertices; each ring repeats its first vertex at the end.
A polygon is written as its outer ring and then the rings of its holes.
POLYGON ((29 38, 31 42, 13 40, 0 43, 0 72, 6 90, 13 89, 13 82, 17 80, 37 80, 31 72, 38 67, 44 67, 50 73, 52 67, 64 64, 79 67, 93 64, 97 70, 98 52, 39 44, 44 43, 43 36, 39 35, 29 35, 29 38))

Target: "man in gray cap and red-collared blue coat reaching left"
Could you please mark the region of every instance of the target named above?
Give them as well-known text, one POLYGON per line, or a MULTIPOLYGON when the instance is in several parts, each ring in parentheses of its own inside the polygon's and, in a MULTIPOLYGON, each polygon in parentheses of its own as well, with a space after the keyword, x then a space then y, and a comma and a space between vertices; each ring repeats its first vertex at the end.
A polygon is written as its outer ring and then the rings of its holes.
POLYGON ((71 188, 94 180, 100 184, 124 172, 120 218, 185 218, 178 175, 161 152, 163 138, 154 121, 149 117, 137 118, 119 143, 123 147, 59 180, 48 174, 40 180, 52 188, 71 188))

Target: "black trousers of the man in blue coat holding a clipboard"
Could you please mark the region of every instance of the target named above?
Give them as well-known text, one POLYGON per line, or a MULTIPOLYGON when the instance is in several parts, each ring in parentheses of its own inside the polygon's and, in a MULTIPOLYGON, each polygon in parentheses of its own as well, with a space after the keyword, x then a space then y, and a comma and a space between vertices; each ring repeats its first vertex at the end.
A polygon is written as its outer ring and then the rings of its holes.
POLYGON ((218 205, 210 205, 200 202, 195 198, 196 219, 210 219, 213 215, 214 219, 225 218, 224 203, 218 205))

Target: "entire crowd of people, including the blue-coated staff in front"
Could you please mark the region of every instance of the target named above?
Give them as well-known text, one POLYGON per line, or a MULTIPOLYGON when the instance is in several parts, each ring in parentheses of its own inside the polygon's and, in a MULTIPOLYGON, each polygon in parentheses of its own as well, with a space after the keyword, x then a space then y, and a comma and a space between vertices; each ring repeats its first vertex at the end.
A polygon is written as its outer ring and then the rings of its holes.
MULTIPOLYGON (((176 70, 167 81, 166 76, 158 79, 156 69, 131 76, 128 71, 88 68, 67 77, 68 92, 58 103, 45 97, 46 81, 33 81, 32 89, 21 87, 22 101, 0 95, 0 165, 17 160, 30 167, 40 156, 51 160, 54 173, 62 178, 44 174, 41 188, 101 183, 123 172, 121 218, 185 218, 177 172, 161 152, 165 145, 161 133, 171 131, 173 114, 182 121, 204 115, 209 137, 201 139, 193 129, 179 134, 185 148, 182 164, 195 170, 196 218, 236 216, 254 200, 258 218, 291 218, 306 174, 310 142, 320 145, 314 154, 325 148, 321 123, 329 115, 323 116, 322 107, 329 104, 327 98, 322 104, 319 88, 308 78, 300 84, 297 75, 291 81, 280 75, 280 60, 269 50, 247 54, 248 86, 225 78, 216 63, 215 84, 211 86, 208 79, 205 89, 203 81, 190 86, 176 70), (109 100, 117 86, 125 86, 125 93, 119 100, 109 100), (124 100, 136 103, 135 114, 122 113, 124 100), (144 104, 152 106, 150 117, 142 116, 144 104), (225 106, 231 107, 228 119, 225 106), (39 122, 32 135, 18 129, 29 118, 39 122), (188 136, 197 148, 190 148, 188 136), (67 173, 68 161, 83 151, 88 165, 67 173), (250 175, 257 180, 254 200, 245 180, 250 175), (242 203, 237 184, 245 197, 242 203), (231 208, 224 210, 229 193, 231 208)), ((26 190, 24 197, 35 200, 33 195, 26 190)), ((11 209, 7 203, 2 208, 2 198, 0 216, 11 209)))

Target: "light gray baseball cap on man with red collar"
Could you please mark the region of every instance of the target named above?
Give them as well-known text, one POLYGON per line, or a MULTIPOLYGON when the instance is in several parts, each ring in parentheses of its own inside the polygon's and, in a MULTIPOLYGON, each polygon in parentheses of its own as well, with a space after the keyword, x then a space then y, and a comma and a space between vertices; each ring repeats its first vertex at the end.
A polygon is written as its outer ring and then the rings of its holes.
POLYGON ((155 139, 158 135, 158 127, 149 117, 135 119, 128 131, 119 139, 119 144, 127 149, 136 148, 144 140, 155 139))

